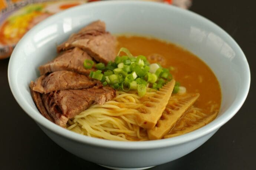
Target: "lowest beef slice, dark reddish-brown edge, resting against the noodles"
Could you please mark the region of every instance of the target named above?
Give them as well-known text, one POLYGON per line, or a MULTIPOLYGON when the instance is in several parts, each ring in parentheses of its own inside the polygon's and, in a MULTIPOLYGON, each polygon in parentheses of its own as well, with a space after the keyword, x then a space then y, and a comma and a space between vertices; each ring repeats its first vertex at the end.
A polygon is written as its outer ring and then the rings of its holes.
POLYGON ((89 108, 93 103, 103 104, 115 97, 111 87, 66 89, 42 94, 42 101, 53 121, 66 127, 68 119, 89 108))

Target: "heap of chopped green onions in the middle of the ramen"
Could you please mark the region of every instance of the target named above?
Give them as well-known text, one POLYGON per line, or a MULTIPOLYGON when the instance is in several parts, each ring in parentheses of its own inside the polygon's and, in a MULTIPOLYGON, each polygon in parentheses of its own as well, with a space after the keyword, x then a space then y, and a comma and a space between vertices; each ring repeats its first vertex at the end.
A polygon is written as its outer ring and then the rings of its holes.
MULTIPOLYGON (((92 60, 86 59, 83 65, 85 68, 92 68, 93 64, 92 60)), ((119 50, 114 62, 109 61, 107 65, 98 63, 95 68, 98 70, 90 72, 91 78, 121 91, 137 90, 140 96, 145 95, 147 85, 158 90, 172 79, 170 69, 156 63, 149 64, 143 55, 134 57, 127 48, 119 50), (126 55, 119 56, 121 52, 126 55)), ((179 86, 178 83, 175 84, 173 93, 178 92, 179 86)))

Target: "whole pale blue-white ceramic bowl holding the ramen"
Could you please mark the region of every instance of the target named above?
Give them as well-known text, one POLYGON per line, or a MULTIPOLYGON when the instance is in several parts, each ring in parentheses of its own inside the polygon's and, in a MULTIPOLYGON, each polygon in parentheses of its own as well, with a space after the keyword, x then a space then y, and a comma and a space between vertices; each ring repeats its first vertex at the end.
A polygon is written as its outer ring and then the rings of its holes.
POLYGON ((250 86, 250 70, 243 51, 220 27, 187 10, 138 1, 90 3, 46 19, 17 44, 10 58, 8 78, 16 101, 59 146, 85 160, 123 168, 155 166, 190 153, 236 114, 250 86), (220 82, 219 116, 203 128, 185 135, 145 142, 82 136, 45 119, 31 98, 30 81, 39 76, 39 65, 56 56, 57 44, 98 19, 106 22, 111 33, 151 35, 181 45, 199 56, 220 82))

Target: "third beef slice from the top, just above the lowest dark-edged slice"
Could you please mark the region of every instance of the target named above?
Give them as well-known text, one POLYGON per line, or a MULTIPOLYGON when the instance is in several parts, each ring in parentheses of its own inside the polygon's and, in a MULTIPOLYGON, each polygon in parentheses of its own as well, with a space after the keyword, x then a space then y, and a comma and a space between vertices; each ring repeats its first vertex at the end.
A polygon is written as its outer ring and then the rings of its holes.
POLYGON ((64 89, 82 89, 96 86, 102 87, 100 81, 72 71, 55 71, 49 75, 41 75, 36 79, 33 91, 49 93, 64 89))

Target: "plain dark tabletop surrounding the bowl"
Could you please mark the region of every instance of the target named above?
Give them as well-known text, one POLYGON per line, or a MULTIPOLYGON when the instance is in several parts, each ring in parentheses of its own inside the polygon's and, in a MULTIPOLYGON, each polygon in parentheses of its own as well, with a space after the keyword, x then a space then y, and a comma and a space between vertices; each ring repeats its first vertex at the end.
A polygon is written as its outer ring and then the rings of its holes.
MULTIPOLYGON (((152 170, 256 169, 256 1, 193 0, 190 8, 222 27, 250 65, 249 95, 237 114, 198 149, 152 170)), ((1 38, 1 37, 0 37, 1 38)), ((0 169, 104 169, 56 145, 17 104, 0 60, 0 169)))

